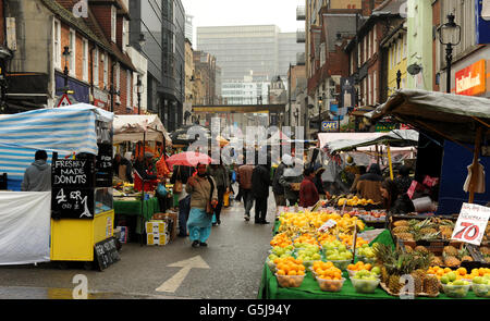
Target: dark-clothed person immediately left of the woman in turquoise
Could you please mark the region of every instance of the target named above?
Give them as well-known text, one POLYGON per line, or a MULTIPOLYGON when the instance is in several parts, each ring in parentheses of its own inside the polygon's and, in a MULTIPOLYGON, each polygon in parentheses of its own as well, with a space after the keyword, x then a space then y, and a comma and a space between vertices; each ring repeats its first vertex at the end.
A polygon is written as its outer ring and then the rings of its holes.
POLYGON ((192 166, 176 165, 173 170, 170 183, 173 184, 173 193, 179 196, 179 234, 187 236, 187 220, 191 212, 191 195, 185 190, 188 178, 193 175, 192 166))

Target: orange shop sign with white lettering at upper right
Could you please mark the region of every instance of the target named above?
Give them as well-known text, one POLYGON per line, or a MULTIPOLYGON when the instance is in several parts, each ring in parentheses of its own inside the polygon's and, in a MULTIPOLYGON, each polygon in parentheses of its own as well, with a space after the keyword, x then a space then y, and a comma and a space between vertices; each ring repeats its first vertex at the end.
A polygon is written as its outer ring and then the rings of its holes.
POLYGON ((456 94, 478 96, 487 91, 486 60, 480 60, 456 73, 456 94))

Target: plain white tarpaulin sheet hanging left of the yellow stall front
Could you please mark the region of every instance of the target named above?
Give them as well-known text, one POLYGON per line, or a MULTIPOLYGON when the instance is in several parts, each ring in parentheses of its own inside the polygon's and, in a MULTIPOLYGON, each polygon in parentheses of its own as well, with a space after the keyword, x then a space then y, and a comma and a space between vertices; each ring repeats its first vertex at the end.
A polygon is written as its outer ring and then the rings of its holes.
POLYGON ((0 192, 0 266, 50 260, 50 192, 0 192))

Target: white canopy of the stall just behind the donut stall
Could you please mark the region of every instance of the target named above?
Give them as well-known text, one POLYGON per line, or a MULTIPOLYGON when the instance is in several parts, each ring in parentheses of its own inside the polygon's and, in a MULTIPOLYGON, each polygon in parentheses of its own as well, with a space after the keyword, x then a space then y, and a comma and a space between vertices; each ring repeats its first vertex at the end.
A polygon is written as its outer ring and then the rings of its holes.
POLYGON ((167 133, 158 115, 114 115, 114 144, 122 141, 140 141, 143 134, 148 141, 163 141, 172 145, 172 139, 167 133))

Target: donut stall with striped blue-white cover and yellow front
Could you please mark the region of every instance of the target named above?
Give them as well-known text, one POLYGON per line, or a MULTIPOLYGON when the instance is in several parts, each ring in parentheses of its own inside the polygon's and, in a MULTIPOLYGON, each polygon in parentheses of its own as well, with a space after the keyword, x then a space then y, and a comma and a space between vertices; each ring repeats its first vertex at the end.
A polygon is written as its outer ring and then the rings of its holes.
POLYGON ((112 116, 84 103, 0 116, 0 171, 9 173, 9 189, 20 190, 36 150, 47 150, 52 171, 51 193, 2 193, 2 208, 10 205, 0 215, 7 232, 0 240, 7 254, 0 257, 10 260, 2 263, 81 261, 105 269, 119 260, 112 237, 111 153, 103 148, 111 145, 112 116), (26 201, 20 202, 21 197, 26 201), (21 240, 22 235, 28 237, 21 240), (36 244, 30 247, 32 240, 36 244))

